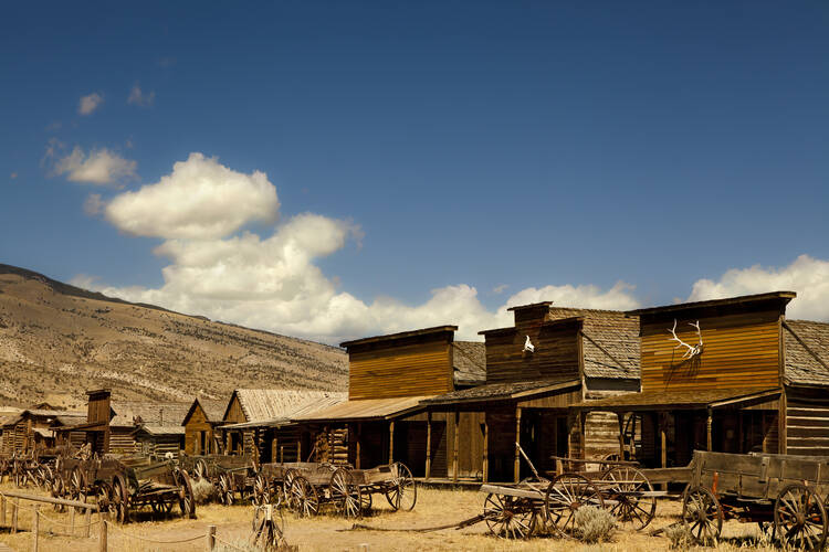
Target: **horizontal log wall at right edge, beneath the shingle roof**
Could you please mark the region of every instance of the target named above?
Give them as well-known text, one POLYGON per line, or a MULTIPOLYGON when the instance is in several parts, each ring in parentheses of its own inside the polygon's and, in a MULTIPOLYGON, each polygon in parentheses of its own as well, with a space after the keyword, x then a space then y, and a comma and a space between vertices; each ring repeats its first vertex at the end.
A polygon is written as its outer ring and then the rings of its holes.
POLYGON ((786 390, 786 453, 829 456, 829 393, 786 390))

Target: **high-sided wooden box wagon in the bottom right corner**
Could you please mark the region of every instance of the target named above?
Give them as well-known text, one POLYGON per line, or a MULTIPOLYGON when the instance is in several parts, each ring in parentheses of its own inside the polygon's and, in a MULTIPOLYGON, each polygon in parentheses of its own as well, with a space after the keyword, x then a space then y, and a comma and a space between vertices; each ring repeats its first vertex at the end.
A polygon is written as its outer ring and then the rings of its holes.
POLYGON ((790 548, 826 543, 829 457, 694 450, 691 467, 682 521, 695 541, 715 541, 734 519, 758 523, 790 548))

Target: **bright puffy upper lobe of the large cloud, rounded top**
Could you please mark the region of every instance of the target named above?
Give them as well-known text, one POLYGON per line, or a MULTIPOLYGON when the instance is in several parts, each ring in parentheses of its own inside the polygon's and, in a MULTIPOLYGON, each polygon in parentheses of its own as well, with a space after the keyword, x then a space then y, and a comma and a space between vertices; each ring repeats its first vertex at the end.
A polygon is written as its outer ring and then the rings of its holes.
POLYGON ((210 240, 253 221, 274 221, 280 202, 264 172, 233 171, 216 158, 190 153, 172 172, 136 192, 117 195, 106 217, 134 235, 210 240))

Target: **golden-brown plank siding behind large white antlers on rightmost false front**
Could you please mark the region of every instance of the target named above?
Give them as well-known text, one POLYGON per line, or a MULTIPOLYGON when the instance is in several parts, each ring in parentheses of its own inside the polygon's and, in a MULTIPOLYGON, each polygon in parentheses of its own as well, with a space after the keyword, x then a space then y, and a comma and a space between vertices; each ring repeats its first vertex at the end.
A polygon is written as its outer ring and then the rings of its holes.
MULTIPOLYGON (((676 320, 676 336, 697 343, 696 319, 676 320)), ((642 391, 772 389, 779 385, 780 312, 764 310, 700 319, 703 352, 682 360, 669 329, 673 318, 641 320, 642 391)))

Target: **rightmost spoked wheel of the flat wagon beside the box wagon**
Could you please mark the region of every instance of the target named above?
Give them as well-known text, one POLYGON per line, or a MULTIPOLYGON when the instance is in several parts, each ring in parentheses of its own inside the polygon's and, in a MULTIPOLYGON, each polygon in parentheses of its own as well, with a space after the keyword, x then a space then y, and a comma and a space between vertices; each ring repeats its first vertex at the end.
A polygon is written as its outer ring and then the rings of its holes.
POLYGON ((644 529, 657 514, 657 497, 652 496, 653 486, 637 468, 630 466, 617 466, 601 476, 602 481, 609 484, 604 487, 606 495, 612 495, 615 505, 610 507, 610 513, 621 523, 629 524, 637 531, 644 529), (650 496, 638 496, 649 492, 650 496))

